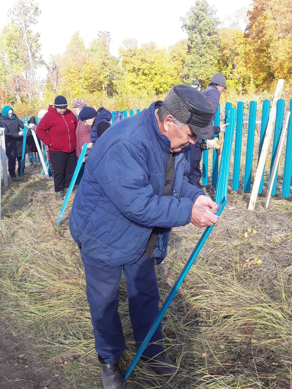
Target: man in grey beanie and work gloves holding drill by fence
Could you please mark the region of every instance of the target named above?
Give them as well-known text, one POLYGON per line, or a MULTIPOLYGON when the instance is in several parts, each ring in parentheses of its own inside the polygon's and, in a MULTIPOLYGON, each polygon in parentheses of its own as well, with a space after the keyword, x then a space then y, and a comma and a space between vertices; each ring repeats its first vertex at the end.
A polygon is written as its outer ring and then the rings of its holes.
MULTIPOLYGON (((216 73, 210 80, 210 84, 208 88, 202 91, 202 94, 206 96, 206 98, 213 103, 215 108, 214 116, 211 119, 211 123, 214 121, 214 117, 216 116, 216 112, 218 109, 220 95, 223 92, 226 86, 226 79, 224 74, 216 73)), ((225 132, 225 127, 229 124, 221 124, 220 126, 213 126, 214 134, 219 134, 220 132, 225 132)), ((190 184, 201 188, 200 180, 202 177, 202 172, 200 169, 200 163, 202 159, 202 150, 201 150, 202 139, 197 138, 197 142, 195 145, 191 145, 190 151, 190 173, 188 174, 188 181, 190 184)), ((209 149, 215 149, 215 141, 214 137, 212 139, 207 139, 209 149)))

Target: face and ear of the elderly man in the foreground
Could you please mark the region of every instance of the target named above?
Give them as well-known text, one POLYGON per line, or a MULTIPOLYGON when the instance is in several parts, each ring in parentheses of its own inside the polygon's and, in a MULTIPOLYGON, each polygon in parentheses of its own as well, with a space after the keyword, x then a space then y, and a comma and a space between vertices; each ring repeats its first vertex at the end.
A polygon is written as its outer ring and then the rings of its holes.
POLYGON ((195 144, 197 135, 193 133, 188 124, 185 124, 176 130, 172 121, 172 116, 169 116, 170 118, 166 117, 164 121, 165 135, 171 141, 169 152, 178 152, 189 144, 195 144))

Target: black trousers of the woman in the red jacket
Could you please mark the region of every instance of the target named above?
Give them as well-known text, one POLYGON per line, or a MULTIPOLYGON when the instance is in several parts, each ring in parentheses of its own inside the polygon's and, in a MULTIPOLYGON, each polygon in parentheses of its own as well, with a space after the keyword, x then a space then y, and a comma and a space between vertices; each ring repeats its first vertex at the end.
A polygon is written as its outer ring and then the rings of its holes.
POLYGON ((63 152, 50 150, 51 166, 54 171, 55 192, 69 188, 76 168, 76 151, 63 152))

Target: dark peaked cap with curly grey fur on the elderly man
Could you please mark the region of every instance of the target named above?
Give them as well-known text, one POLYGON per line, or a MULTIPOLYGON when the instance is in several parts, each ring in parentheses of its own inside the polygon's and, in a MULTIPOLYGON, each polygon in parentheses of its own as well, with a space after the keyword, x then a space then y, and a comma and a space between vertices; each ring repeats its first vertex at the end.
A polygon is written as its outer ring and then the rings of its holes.
POLYGON ((214 105, 200 91, 192 86, 176 85, 167 93, 164 104, 176 119, 188 124, 198 137, 213 137, 211 119, 215 113, 214 105))

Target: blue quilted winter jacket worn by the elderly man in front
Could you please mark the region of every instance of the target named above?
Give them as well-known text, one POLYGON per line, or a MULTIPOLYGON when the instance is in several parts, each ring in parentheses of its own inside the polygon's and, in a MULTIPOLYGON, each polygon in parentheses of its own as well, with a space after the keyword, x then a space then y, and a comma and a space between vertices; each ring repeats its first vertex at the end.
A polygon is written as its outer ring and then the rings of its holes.
POLYGON ((154 102, 111 126, 88 154, 69 220, 84 254, 108 265, 134 263, 158 227, 155 258, 166 256, 171 227, 190 223, 201 189, 188 183, 189 147, 174 156, 172 195, 164 196, 170 140, 162 135, 154 102))

